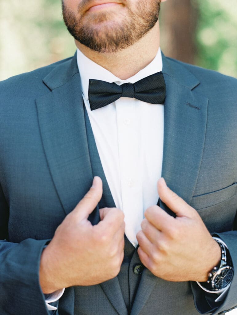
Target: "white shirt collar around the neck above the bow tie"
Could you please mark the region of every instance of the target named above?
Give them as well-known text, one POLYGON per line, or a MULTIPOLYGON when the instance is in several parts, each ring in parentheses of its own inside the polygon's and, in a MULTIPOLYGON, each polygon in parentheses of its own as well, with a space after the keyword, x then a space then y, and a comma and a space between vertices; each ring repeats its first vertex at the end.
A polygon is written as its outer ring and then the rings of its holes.
POLYGON ((88 100, 89 79, 102 80, 109 83, 115 82, 118 85, 123 83, 135 83, 156 72, 162 71, 163 65, 161 49, 159 48, 155 58, 150 62, 150 64, 127 80, 121 80, 120 78, 116 77, 110 71, 87 58, 79 49, 77 49, 77 66, 81 76, 82 94, 84 95, 85 99, 88 100))

